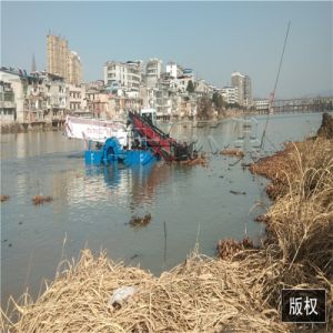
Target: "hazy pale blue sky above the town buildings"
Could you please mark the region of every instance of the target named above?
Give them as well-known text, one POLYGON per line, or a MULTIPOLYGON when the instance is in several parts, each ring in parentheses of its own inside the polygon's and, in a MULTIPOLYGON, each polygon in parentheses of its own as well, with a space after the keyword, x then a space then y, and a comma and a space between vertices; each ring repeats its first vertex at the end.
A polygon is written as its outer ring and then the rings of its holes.
POLYGON ((49 31, 63 36, 85 81, 108 60, 157 57, 192 68, 218 87, 232 71, 252 79, 254 97, 272 91, 291 30, 278 97, 332 93, 332 2, 3 2, 1 64, 46 69, 49 31))

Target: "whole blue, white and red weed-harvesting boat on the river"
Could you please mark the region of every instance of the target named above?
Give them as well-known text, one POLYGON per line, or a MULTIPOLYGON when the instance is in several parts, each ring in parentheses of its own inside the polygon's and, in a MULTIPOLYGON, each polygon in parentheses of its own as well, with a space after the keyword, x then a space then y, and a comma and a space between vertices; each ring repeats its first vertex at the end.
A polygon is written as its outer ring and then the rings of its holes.
POLYGON ((67 117, 65 134, 87 142, 84 160, 88 164, 144 165, 161 158, 168 162, 192 159, 194 143, 180 143, 170 138, 155 125, 155 113, 154 109, 129 112, 127 123, 67 117))

